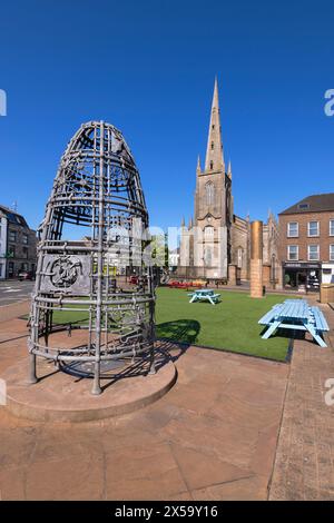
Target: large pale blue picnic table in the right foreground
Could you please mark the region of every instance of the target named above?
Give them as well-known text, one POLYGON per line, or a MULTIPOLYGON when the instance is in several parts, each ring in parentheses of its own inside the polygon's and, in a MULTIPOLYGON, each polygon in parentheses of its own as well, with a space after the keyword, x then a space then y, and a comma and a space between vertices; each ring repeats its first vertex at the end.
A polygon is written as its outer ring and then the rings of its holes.
POLYGON ((308 332, 321 347, 327 346, 323 339, 323 333, 330 330, 326 318, 318 307, 311 307, 306 299, 286 299, 274 305, 258 323, 268 327, 263 339, 268 339, 277 328, 288 328, 308 332))

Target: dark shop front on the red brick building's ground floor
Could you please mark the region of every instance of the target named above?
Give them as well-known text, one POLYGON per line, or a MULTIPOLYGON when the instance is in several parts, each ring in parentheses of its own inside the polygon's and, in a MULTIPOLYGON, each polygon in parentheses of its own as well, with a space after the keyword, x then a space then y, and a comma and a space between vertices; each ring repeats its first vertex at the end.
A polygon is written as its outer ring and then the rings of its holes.
POLYGON ((318 292, 322 283, 322 264, 286 262, 283 264, 284 288, 299 292, 318 292))

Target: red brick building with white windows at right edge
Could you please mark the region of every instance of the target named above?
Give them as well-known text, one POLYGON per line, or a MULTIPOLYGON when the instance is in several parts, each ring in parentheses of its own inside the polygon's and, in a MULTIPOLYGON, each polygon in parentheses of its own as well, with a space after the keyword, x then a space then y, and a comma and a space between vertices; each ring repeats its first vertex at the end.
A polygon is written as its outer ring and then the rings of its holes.
POLYGON ((283 285, 317 290, 334 282, 334 194, 308 196, 278 216, 283 285))

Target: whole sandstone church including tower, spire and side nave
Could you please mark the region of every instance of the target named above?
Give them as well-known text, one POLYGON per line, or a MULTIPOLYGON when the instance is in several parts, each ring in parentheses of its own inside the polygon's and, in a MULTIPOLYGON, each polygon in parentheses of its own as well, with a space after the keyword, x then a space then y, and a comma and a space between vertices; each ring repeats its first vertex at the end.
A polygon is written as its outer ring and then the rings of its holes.
MULTIPOLYGON (((264 225, 266 283, 278 276, 278 224, 272 213, 264 225)), ((234 214, 232 165, 227 169, 222 140, 218 82, 215 80, 204 169, 197 160, 195 214, 180 228, 179 265, 183 278, 236 284, 249 279, 250 220, 234 214)))

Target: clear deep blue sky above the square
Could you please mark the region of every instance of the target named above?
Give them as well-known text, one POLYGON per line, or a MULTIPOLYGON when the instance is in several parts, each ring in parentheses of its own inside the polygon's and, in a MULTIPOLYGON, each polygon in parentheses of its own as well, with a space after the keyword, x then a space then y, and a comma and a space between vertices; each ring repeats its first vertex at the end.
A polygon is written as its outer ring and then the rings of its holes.
POLYGON ((81 122, 120 128, 150 221, 193 213, 215 75, 235 211, 334 190, 333 1, 30 0, 0 8, 0 203, 36 227, 81 122))

